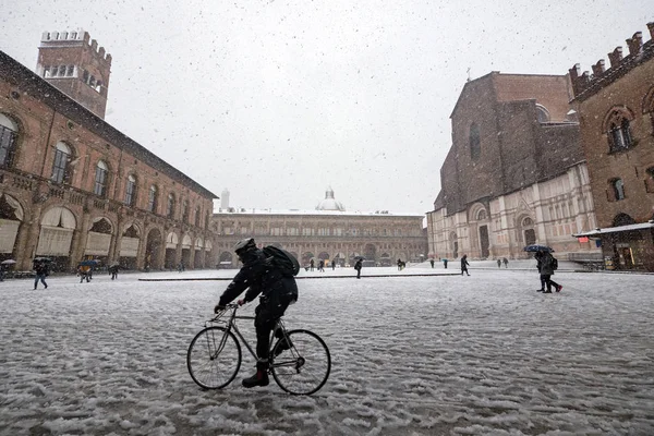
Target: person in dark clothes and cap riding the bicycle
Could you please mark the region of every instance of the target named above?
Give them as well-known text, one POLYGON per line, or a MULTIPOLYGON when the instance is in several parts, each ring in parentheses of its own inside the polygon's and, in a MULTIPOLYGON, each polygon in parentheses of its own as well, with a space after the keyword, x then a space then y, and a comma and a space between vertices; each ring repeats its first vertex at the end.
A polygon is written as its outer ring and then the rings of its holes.
POLYGON ((243 263, 241 270, 234 276, 227 287, 216 307, 215 313, 223 311, 244 290, 245 296, 239 300, 243 305, 259 296, 259 304, 254 313, 256 328, 256 374, 243 379, 243 386, 268 385, 268 352, 270 349, 270 332, 277 319, 283 316, 289 304, 298 300, 298 284, 293 276, 283 275, 279 268, 272 266, 264 252, 256 247, 253 238, 237 242, 234 252, 243 263))

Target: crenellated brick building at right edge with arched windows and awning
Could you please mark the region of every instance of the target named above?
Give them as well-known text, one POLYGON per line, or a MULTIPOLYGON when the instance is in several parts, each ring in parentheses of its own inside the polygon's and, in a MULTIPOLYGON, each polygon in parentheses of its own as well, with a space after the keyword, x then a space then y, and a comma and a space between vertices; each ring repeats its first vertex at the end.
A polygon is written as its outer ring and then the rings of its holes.
POLYGON ((602 59, 592 74, 570 70, 597 228, 607 266, 654 271, 654 23, 602 59))

